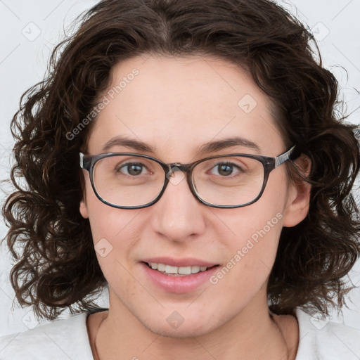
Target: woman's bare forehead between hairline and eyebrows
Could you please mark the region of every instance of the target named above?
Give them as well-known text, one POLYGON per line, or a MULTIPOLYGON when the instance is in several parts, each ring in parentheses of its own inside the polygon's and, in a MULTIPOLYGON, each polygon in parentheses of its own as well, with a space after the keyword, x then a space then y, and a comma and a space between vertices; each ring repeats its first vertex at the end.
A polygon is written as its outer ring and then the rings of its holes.
MULTIPOLYGON (((113 136, 148 143, 153 155, 182 154, 203 143, 240 136, 263 151, 283 150, 273 104, 251 77, 226 60, 205 56, 139 56, 114 66, 101 94, 88 148, 113 136)), ((179 160, 179 159, 177 159, 179 160)))

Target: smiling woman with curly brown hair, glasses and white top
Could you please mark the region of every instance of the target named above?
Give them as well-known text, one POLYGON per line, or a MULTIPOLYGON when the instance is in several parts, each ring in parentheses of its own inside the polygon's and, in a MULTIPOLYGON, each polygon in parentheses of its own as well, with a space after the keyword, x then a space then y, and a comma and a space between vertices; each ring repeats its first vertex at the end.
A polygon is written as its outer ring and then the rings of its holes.
POLYGON ((266 0, 86 13, 13 119, 4 205, 20 304, 81 314, 1 359, 360 356, 358 330, 311 321, 360 249, 359 143, 311 39, 266 0))

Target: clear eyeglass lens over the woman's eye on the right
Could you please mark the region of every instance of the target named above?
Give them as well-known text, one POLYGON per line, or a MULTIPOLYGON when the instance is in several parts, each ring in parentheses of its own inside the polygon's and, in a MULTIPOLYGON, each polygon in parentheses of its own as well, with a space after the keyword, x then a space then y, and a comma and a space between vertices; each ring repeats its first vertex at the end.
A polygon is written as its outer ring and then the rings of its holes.
POLYGON ((244 205, 257 198, 264 183, 262 162, 229 156, 200 162, 193 169, 198 196, 212 205, 244 205))

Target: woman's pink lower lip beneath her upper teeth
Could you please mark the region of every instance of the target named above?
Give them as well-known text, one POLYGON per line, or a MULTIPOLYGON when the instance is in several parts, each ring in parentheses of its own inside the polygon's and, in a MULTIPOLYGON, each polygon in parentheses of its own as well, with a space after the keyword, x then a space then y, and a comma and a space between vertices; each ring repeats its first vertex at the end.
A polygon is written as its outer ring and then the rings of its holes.
POLYGON ((143 269, 146 271, 148 277, 158 285, 159 288, 169 291, 171 293, 188 293, 199 288, 206 281, 209 280, 210 276, 214 274, 219 266, 213 266, 211 269, 206 271, 200 271, 196 274, 186 276, 171 276, 162 274, 158 270, 151 269, 148 265, 141 263, 143 269))

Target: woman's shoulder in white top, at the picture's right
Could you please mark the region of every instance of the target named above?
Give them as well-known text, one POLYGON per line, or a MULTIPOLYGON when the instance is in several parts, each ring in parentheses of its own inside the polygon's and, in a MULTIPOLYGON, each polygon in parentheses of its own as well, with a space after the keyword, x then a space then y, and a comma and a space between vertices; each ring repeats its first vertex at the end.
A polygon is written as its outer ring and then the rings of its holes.
POLYGON ((295 360, 360 359, 360 329, 295 310, 299 347, 295 360))

